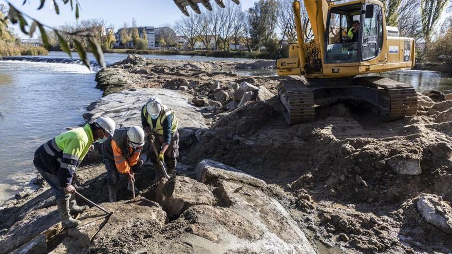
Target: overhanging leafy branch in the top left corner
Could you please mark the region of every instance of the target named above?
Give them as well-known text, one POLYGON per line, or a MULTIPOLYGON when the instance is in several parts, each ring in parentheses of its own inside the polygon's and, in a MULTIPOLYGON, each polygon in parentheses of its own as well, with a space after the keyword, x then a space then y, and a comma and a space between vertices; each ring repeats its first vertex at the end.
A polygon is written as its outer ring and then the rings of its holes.
MULTIPOLYGON (((79 19, 80 15, 80 3, 78 0, 49 0, 51 1, 51 4, 55 10, 55 13, 57 15, 60 14, 60 7, 57 2, 62 2, 63 5, 69 4, 71 7, 71 11, 73 11, 73 7, 75 4, 75 15, 76 19, 79 19)), ((81 60, 86 65, 86 67, 90 68, 89 65, 89 59, 86 53, 86 49, 82 46, 82 43, 80 41, 80 38, 83 38, 88 42, 89 49, 93 53, 93 55, 96 57, 97 62, 99 65, 104 68, 105 67, 105 58, 104 54, 102 52, 102 48, 99 45, 99 42, 97 41, 96 37, 93 34, 93 31, 89 29, 79 29, 77 31, 73 32, 67 32, 62 31, 56 28, 53 28, 51 26, 42 24, 41 22, 37 21, 35 18, 27 15, 26 13, 21 12, 20 10, 17 10, 9 1, 6 1, 9 5, 9 12, 8 15, 4 18, 0 18, 0 22, 5 24, 5 26, 8 26, 8 22, 11 22, 11 24, 19 24, 19 27, 21 31, 24 34, 27 34, 31 37, 33 37, 33 34, 36 32, 36 28, 39 29, 39 33, 41 34, 41 38, 44 44, 45 48, 49 48, 49 36, 47 34, 47 31, 45 28, 52 30, 56 37, 58 37, 58 41, 60 44, 60 47, 63 51, 65 51, 70 57, 72 57, 70 48, 69 48, 69 42, 71 42, 75 48, 75 50, 78 52, 81 60), (28 18, 31 21, 31 24, 29 25, 27 20, 25 18, 28 18), (65 40, 65 38, 62 36, 62 34, 67 35, 67 37, 70 39, 69 41, 65 40)), ((28 0, 24 0, 22 5, 25 5, 28 2, 28 0)), ((46 0, 41 0, 40 6, 37 8, 38 10, 42 9, 44 7, 46 0)))

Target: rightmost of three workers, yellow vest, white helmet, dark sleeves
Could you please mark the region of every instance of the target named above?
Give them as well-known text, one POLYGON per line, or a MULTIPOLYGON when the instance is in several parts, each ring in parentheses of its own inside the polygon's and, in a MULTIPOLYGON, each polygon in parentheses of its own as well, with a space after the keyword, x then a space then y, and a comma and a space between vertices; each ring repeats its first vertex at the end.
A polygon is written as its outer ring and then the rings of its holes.
POLYGON ((150 97, 141 109, 141 124, 149 137, 148 158, 154 163, 156 179, 164 177, 159 162, 166 163, 167 173, 176 169, 179 156, 179 132, 174 111, 164 106, 157 97, 150 97), (157 150, 158 155, 156 156, 157 150))

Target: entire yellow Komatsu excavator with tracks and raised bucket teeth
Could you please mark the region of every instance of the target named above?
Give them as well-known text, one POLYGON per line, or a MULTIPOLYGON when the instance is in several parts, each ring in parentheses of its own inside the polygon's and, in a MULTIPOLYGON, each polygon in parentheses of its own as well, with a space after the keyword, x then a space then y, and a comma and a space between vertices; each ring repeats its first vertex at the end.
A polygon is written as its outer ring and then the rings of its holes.
MULTIPOLYGON (((224 6, 222 0, 215 1, 224 6)), ((174 2, 187 15, 186 6, 206 6, 209 1, 174 2)), ((363 75, 413 68, 414 39, 400 37, 397 28, 386 26, 385 10, 378 0, 337 2, 304 0, 314 34, 309 43, 304 40, 300 2, 293 2, 297 43, 289 45, 288 58, 276 61, 276 71, 306 79, 290 79, 278 87, 287 122, 312 122, 317 106, 340 100, 366 102, 387 120, 416 115, 418 97, 411 85, 363 75)))

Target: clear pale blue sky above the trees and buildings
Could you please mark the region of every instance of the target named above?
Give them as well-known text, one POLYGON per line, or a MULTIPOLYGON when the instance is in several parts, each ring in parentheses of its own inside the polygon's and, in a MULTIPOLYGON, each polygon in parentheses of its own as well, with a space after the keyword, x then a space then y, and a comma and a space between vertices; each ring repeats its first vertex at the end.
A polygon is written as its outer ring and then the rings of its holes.
MULTIPOLYGON (((107 22, 107 26, 114 25, 115 30, 121 28, 124 22, 131 24, 132 18, 137 20, 138 26, 154 26, 159 27, 167 24, 174 24, 183 16, 179 8, 174 4, 173 0, 78 0, 81 5, 80 18, 102 18, 107 22)), ((228 0, 229 1, 229 0, 228 0)), ((242 9, 248 9, 253 6, 257 0, 240 0, 242 9)), ((45 25, 58 27, 65 23, 74 23, 75 10, 71 12, 70 5, 63 5, 62 1, 59 5, 60 15, 56 15, 51 8, 51 0, 47 0, 45 6, 41 10, 37 10, 40 1, 28 0, 22 6, 23 0, 10 0, 18 10, 30 15, 45 25)), ((75 2, 75 0, 74 0, 75 2)), ((211 0, 215 4, 214 0, 211 0)), ((0 4, 6 4, 4 0, 0 0, 0 4)), ((200 4, 202 7, 202 5, 200 4)), ((188 8, 191 10, 191 8, 188 8)), ((208 11, 201 8, 201 11, 208 11)), ((193 12, 192 12, 193 13, 193 12)), ((15 27, 15 31, 21 37, 20 30, 15 27)))

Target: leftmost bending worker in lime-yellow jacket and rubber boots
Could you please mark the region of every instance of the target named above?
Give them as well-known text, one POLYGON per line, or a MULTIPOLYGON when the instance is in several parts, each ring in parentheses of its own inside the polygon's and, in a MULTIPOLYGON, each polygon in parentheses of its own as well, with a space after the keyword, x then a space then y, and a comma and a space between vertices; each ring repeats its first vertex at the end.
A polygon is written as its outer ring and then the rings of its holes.
POLYGON ((115 121, 99 118, 84 127, 64 132, 44 143, 34 153, 33 164, 50 185, 63 227, 77 227, 80 221, 72 213, 80 213, 88 206, 78 206, 72 186, 73 175, 95 140, 108 138, 115 132, 115 121))

